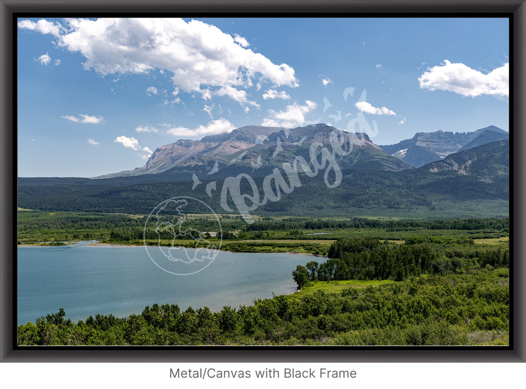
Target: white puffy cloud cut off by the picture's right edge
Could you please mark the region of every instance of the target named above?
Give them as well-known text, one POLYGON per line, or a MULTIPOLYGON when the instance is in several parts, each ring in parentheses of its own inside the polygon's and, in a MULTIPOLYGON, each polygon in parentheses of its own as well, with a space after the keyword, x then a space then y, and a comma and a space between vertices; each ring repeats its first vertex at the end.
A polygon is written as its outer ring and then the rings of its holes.
POLYGON ((462 96, 509 96, 509 64, 483 74, 462 63, 453 64, 447 59, 443 65, 428 68, 419 78, 420 88, 449 91, 462 96))

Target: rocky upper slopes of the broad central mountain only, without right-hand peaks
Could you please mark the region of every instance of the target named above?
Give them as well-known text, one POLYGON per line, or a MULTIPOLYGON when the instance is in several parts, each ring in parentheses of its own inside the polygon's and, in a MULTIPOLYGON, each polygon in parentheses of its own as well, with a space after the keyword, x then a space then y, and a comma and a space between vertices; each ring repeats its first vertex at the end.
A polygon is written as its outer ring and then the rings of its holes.
MULTIPOLYGON (((174 168, 178 171, 201 171, 204 168, 210 174, 232 164, 252 166, 254 170, 280 167, 283 163, 292 163, 297 156, 308 160, 310 145, 329 145, 331 134, 335 133, 349 136, 349 133, 326 124, 296 128, 246 126, 228 134, 205 136, 199 141, 179 139, 157 148, 142 167, 93 178, 157 174, 174 168)), ((372 143, 367 134, 352 134, 351 142, 352 152, 340 159, 341 168, 400 171, 412 167, 372 143)))

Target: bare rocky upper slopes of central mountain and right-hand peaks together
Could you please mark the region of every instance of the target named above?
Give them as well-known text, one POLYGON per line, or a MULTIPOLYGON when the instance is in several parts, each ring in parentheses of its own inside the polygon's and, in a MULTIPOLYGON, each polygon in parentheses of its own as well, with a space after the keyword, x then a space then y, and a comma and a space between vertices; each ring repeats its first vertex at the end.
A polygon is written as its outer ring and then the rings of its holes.
MULTIPOLYGON (((164 172, 180 173, 188 179, 189 172, 206 172, 207 175, 232 172, 235 168, 252 168, 252 174, 266 172, 268 168, 292 163, 298 156, 307 159, 313 143, 330 145, 331 134, 347 135, 326 124, 305 127, 245 126, 230 133, 209 135, 198 141, 179 139, 175 143, 158 147, 144 166, 130 171, 112 173, 93 178, 129 177, 164 172), (259 172, 259 168, 264 167, 259 172)), ((504 130, 489 126, 474 132, 452 133, 436 131, 419 132, 411 139, 394 145, 377 146, 363 133, 352 134, 352 151, 339 158, 342 169, 401 171, 420 167, 446 156, 508 139, 504 130)))

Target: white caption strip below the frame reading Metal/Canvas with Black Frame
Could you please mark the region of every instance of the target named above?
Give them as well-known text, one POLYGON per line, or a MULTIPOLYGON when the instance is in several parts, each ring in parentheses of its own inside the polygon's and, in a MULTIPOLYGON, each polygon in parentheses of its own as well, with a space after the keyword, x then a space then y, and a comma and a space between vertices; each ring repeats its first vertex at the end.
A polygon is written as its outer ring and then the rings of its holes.
POLYGON ((141 388, 425 388, 468 389, 507 388, 524 384, 524 363, 3 363, 0 377, 3 387, 47 388, 141 387, 141 388), (170 378, 170 368, 250 370, 248 379, 170 378), (355 370, 356 378, 284 378, 284 368, 316 370, 355 370), (276 368, 280 378, 256 378, 254 371, 276 368), (110 386, 111 385, 111 386, 110 386), (341 386, 345 385, 345 386, 341 386))

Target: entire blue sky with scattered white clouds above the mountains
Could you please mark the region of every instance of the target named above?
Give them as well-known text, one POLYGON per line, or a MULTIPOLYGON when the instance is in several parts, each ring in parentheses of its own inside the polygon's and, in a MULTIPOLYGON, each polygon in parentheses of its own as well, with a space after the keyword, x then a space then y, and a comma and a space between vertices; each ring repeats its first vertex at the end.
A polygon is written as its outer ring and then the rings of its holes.
POLYGON ((245 125, 509 131, 508 56, 507 18, 21 18, 18 176, 129 170, 245 125))

